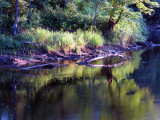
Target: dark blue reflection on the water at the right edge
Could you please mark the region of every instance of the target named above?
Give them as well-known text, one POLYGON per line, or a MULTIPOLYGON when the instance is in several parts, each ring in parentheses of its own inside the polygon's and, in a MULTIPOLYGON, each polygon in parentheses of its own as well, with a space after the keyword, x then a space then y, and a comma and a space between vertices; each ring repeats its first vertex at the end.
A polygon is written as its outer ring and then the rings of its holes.
POLYGON ((149 87, 156 97, 160 98, 160 49, 149 49, 142 54, 140 68, 137 69, 134 77, 141 87, 149 87), (154 59, 153 59, 154 58, 154 59))

